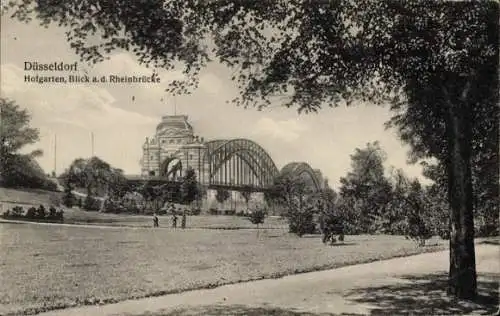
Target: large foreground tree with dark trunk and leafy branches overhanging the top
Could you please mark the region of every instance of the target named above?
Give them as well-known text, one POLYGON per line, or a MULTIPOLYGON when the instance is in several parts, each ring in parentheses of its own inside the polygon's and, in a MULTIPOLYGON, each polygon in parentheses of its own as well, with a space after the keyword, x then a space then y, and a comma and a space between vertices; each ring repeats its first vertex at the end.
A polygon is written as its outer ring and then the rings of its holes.
MULTIPOLYGON (((213 59, 236 70, 243 106, 317 111, 325 103, 365 99, 405 105, 427 117, 412 147, 443 162, 450 203, 449 293, 477 295, 472 126, 480 104, 498 98, 498 3, 397 1, 9 1, 4 12, 67 27, 67 39, 88 62, 113 50, 171 69, 184 64, 186 84, 213 59), (101 41, 96 41, 101 38, 101 41), (214 45, 206 45, 212 39, 214 45), (403 100, 404 102, 398 102, 403 100), (444 146, 426 139, 432 132, 444 146)), ((395 106, 397 107, 397 106, 395 106)), ((497 136, 495 136, 496 138, 497 136)))

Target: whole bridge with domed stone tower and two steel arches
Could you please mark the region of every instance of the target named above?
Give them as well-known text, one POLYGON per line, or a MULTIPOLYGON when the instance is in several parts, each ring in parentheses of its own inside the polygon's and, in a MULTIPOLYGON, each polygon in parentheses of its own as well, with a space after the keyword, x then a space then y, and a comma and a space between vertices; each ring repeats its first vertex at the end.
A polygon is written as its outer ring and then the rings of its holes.
POLYGON ((321 172, 306 162, 291 162, 279 170, 269 153, 250 139, 204 141, 183 115, 162 118, 143 145, 141 164, 141 177, 130 181, 175 182, 191 168, 197 180, 212 189, 263 192, 278 176, 301 177, 315 190, 325 185, 321 172))

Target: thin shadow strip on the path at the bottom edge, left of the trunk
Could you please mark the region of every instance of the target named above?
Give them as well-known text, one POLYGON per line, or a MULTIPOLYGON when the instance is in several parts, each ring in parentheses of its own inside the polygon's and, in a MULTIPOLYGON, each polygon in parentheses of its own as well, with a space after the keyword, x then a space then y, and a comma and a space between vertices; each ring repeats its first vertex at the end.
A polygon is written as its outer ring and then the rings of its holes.
POLYGON ((328 316, 333 314, 313 314, 298 312, 293 309, 276 307, 251 307, 245 305, 208 305, 193 308, 181 308, 169 312, 146 312, 144 314, 124 314, 124 316, 328 316))

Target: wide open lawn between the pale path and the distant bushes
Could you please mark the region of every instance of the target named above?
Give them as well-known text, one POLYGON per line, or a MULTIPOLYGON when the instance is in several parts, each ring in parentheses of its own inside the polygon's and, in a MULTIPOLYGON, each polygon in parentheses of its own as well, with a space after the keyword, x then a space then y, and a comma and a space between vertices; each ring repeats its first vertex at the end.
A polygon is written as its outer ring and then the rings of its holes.
POLYGON ((404 237, 324 246, 283 229, 173 230, 0 223, 0 314, 109 303, 444 249, 404 237))

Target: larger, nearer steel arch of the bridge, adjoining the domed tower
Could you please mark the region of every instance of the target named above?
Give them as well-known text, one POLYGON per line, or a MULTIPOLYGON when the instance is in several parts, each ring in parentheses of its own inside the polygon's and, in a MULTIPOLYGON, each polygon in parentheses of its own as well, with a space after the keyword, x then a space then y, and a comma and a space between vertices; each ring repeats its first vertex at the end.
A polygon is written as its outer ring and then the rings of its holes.
POLYGON ((279 175, 266 150, 248 139, 209 141, 203 160, 208 168, 204 182, 212 187, 265 189, 279 175))

